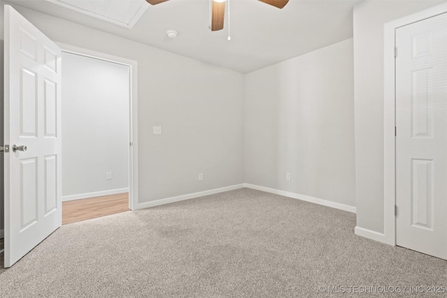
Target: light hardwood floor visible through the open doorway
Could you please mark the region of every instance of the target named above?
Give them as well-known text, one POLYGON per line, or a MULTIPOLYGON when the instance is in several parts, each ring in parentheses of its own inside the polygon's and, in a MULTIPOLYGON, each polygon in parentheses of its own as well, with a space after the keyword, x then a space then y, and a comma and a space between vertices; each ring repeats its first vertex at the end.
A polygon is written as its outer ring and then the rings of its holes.
POLYGON ((62 202, 62 225, 129 211, 129 193, 62 202))

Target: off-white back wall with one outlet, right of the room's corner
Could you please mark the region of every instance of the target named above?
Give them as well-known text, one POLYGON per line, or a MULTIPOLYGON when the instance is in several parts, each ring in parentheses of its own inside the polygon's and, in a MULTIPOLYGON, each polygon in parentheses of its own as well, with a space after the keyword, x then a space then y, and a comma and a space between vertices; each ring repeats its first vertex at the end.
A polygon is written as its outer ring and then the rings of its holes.
POLYGON ((247 74, 245 181, 356 206, 353 109, 352 38, 247 74))

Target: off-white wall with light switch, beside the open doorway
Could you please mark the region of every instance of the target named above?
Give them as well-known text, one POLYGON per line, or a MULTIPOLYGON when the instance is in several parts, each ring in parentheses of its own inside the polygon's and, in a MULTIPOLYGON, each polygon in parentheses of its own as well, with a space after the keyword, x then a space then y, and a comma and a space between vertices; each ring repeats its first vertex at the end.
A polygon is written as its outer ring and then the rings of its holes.
POLYGON ((140 202, 244 182, 244 75, 15 8, 52 40, 138 61, 140 202))

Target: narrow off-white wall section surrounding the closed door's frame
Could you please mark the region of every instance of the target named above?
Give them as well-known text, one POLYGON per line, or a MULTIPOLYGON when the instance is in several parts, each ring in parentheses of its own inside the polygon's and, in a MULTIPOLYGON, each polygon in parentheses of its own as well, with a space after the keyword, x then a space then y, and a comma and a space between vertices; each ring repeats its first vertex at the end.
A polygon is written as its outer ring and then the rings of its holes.
POLYGON ((383 24, 444 1, 364 1, 353 10, 357 226, 383 233, 383 24))

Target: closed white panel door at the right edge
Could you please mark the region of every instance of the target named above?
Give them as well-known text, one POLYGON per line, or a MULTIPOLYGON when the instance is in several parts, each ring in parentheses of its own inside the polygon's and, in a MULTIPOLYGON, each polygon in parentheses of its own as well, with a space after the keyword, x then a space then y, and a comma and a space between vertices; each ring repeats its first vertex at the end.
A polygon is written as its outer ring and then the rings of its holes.
POLYGON ((396 243, 447 259, 447 14, 396 47, 396 243))

